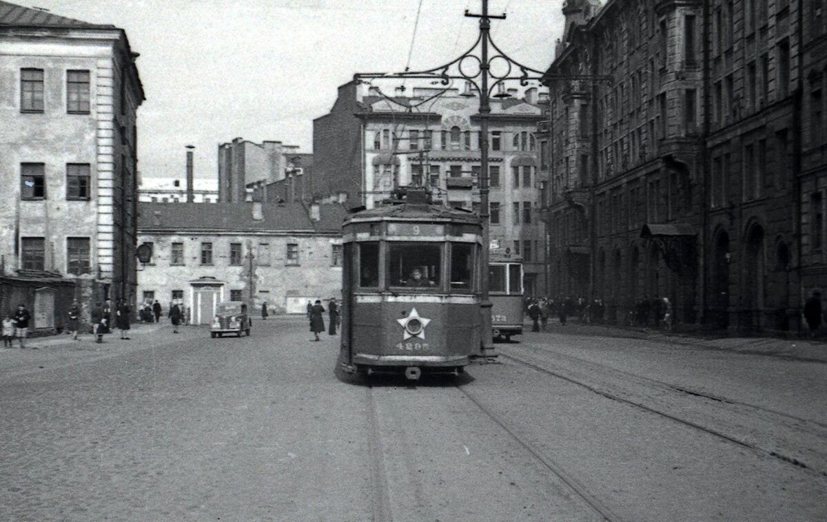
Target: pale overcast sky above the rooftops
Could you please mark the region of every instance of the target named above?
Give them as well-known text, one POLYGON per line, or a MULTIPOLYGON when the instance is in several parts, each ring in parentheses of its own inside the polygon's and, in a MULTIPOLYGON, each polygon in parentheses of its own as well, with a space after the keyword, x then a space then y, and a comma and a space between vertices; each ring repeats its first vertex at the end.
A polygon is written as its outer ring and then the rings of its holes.
MULTIPOLYGON (((478 34, 480 0, 11 0, 127 31, 146 102, 138 110, 142 177, 218 176, 234 138, 312 152, 313 119, 357 72, 430 69, 478 34)), ((562 0, 490 0, 492 40, 545 70, 562 36, 562 0)), ((516 87, 516 86, 514 86, 516 87)))

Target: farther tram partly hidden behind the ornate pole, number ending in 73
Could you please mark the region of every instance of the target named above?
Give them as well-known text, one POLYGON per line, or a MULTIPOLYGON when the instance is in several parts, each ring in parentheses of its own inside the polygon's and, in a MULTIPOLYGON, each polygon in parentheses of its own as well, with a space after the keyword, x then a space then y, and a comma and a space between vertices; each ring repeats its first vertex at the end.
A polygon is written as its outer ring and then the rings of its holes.
POLYGON ((523 261, 492 253, 488 270, 491 334, 508 341, 523 333, 523 261))

